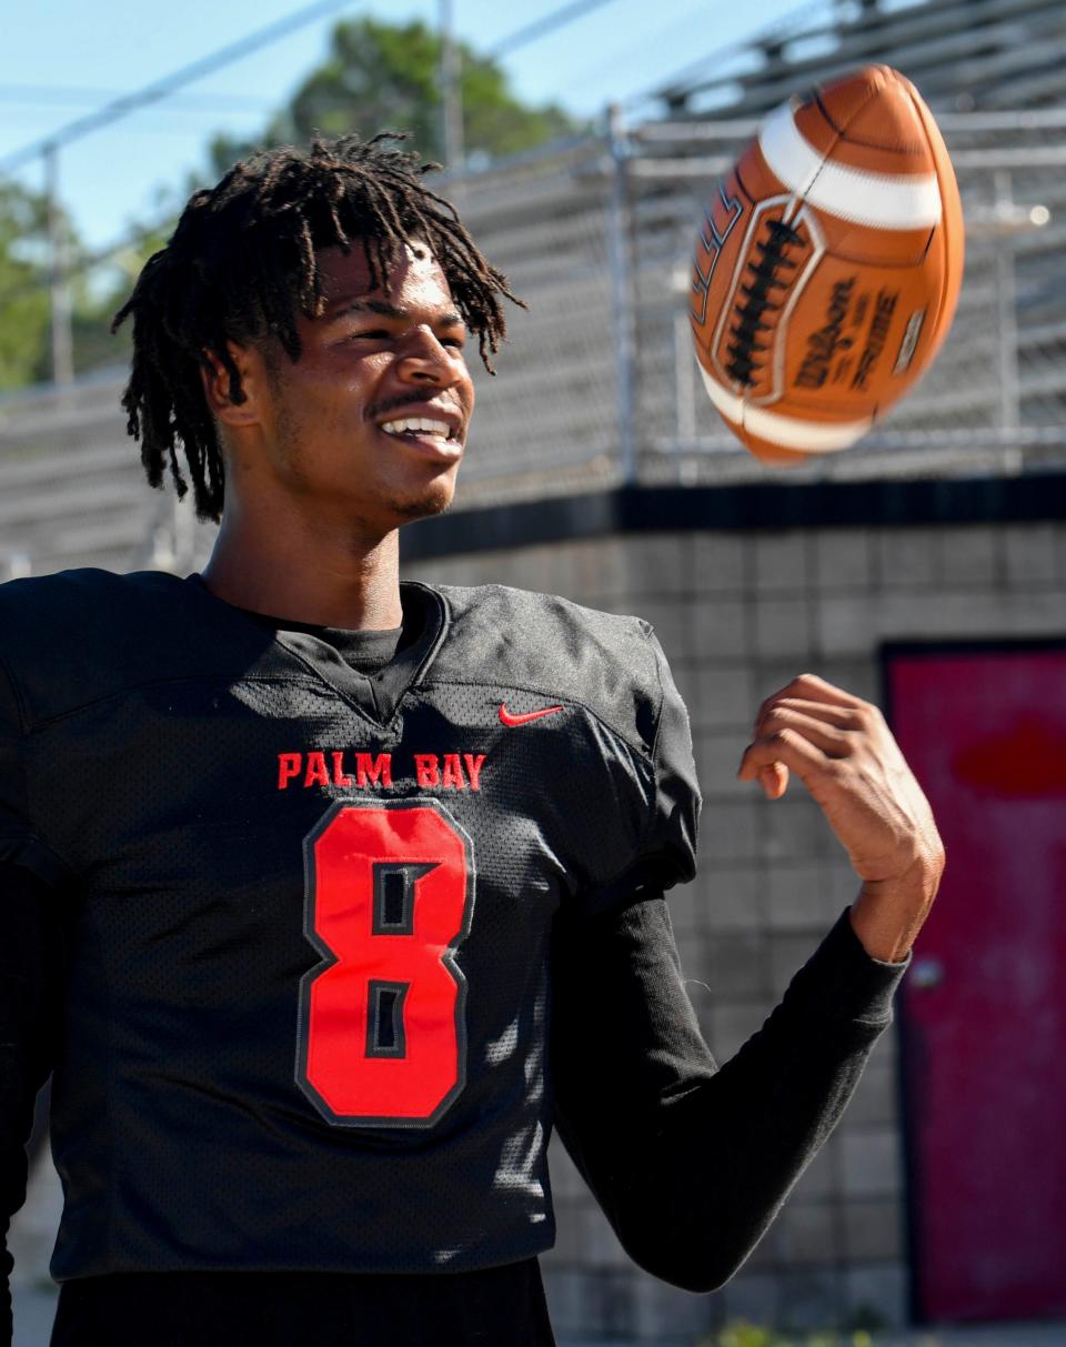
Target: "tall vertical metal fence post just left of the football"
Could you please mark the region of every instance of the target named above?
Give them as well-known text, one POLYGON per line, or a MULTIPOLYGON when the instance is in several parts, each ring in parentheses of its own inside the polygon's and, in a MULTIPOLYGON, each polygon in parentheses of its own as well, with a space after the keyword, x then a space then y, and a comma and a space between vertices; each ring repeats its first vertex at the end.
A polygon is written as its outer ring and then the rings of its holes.
POLYGON ((619 459, 621 481, 636 481, 636 426, 635 418, 635 314, 632 265, 629 256, 629 185, 627 174, 627 143, 621 108, 608 108, 608 148, 610 151, 612 180, 608 206, 608 261, 610 265, 610 307, 615 338, 616 407, 619 416, 619 459))

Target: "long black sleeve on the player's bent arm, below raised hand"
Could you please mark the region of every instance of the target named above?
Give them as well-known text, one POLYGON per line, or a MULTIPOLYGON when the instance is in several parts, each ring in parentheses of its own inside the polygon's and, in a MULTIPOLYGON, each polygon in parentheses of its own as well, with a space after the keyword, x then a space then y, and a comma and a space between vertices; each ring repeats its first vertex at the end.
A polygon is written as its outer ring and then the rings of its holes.
POLYGON ((559 924, 555 1121, 637 1263, 689 1290, 732 1277, 836 1126, 908 962, 871 959, 845 911, 718 1068, 662 897, 559 924))

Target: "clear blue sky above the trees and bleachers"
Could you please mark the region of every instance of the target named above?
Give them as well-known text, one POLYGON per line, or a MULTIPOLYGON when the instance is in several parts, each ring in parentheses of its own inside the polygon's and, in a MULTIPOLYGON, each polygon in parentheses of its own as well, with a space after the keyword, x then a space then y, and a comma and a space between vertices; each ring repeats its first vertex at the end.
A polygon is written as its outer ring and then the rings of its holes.
MULTIPOLYGON (((306 0, 35 0, 15 8, 0 46, 0 162, 111 98, 131 93, 306 7, 306 0), (62 98, 63 101, 57 101, 62 98)), ((456 32, 477 50, 562 0, 451 0, 456 32)), ((516 93, 596 114, 792 13, 799 0, 608 0, 528 43, 503 65, 516 93)), ((253 135, 326 51, 337 18, 435 23, 439 0, 356 0, 337 13, 189 85, 166 102, 92 132, 58 156, 59 198, 92 249, 177 202, 214 132, 253 135)), ((34 160, 15 172, 43 187, 34 160)))

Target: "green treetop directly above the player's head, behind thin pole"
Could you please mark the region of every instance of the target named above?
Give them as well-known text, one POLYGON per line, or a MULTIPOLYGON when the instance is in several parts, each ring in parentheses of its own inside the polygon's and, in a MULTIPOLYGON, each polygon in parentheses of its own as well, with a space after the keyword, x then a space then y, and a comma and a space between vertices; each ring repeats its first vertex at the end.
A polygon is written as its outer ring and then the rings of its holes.
MULTIPOLYGON (((468 160, 516 154, 585 129, 558 105, 531 108, 511 90, 505 71, 460 43, 462 128, 468 160)), ((299 85, 255 141, 218 136, 212 167, 224 172, 253 145, 306 144, 315 135, 408 131, 426 159, 443 159, 441 38, 422 20, 407 24, 354 19, 338 23, 326 59, 299 85)))

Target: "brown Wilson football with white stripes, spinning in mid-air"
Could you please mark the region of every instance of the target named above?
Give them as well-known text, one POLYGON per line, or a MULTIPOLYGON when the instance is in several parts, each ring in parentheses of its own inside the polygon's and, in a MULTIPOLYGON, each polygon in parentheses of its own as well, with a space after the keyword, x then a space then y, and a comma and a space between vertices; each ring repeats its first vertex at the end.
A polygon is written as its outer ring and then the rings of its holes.
POLYGON ((706 206, 691 326, 710 400, 770 462, 848 449, 929 369, 962 282, 951 160, 868 66, 767 117, 706 206))

